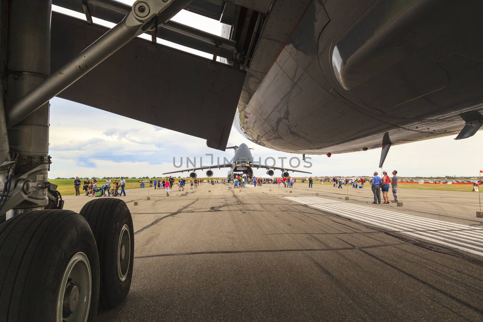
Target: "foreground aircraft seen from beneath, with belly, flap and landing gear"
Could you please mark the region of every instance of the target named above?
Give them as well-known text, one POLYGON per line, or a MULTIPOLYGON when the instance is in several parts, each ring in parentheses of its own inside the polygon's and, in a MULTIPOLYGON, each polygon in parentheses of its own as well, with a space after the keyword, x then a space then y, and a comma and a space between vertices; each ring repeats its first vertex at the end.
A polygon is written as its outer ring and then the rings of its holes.
POLYGON ((328 155, 383 147, 381 163, 391 144, 463 139, 483 123, 480 1, 132 2, 0 0, 0 321, 93 321, 99 302, 114 308, 130 288, 126 204, 62 210, 48 182, 55 96, 219 150, 235 120, 257 144, 328 155), (171 21, 180 10, 226 24, 223 35, 171 21), (186 117, 190 126, 176 122, 186 117))

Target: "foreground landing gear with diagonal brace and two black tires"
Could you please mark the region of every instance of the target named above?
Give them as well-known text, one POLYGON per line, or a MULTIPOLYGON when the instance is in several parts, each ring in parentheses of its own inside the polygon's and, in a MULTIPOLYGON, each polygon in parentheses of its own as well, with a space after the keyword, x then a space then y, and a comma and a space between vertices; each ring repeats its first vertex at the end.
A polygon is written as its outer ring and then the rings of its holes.
POLYGON ((119 199, 62 210, 50 169, 49 100, 191 0, 137 0, 50 75, 51 0, 0 1, 0 321, 91 322, 128 295, 131 214, 119 199), (50 75, 50 76, 49 76, 50 75))

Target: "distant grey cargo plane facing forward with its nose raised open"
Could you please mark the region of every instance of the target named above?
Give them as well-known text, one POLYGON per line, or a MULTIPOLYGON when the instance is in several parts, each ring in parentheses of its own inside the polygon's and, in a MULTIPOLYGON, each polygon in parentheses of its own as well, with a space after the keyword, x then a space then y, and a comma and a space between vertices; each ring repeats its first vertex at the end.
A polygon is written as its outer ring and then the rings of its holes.
POLYGON ((196 178, 198 174, 196 173, 196 170, 204 170, 208 169, 206 171, 206 176, 207 177, 213 177, 213 169, 215 168, 230 168, 227 173, 227 178, 228 180, 231 180, 234 178, 236 175, 243 175, 246 174, 249 177, 253 176, 253 168, 265 168, 267 169, 267 174, 269 176, 273 176, 275 174, 274 170, 282 170, 281 176, 284 178, 287 178, 289 176, 288 171, 292 172, 303 172, 303 173, 312 173, 312 172, 307 172, 307 171, 301 171, 297 169, 291 169, 291 168, 286 168, 286 167, 269 167, 265 164, 262 163, 256 163, 254 162, 252 153, 250 152, 250 149, 245 143, 241 143, 240 146, 230 146, 227 147, 227 149, 234 149, 235 150, 235 155, 233 156, 233 159, 231 162, 220 164, 220 165, 211 165, 207 167, 199 167, 199 168, 188 168, 184 170, 178 170, 178 171, 172 171, 172 172, 166 172, 163 174, 171 174, 171 173, 178 173, 178 172, 187 172, 189 171, 190 174, 189 176, 191 178, 196 178))

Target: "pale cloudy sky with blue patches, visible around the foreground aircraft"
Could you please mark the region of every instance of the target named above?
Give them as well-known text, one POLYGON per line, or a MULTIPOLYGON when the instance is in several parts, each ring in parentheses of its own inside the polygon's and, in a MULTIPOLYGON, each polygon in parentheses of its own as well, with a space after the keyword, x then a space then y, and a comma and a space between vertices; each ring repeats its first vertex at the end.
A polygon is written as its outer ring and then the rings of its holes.
MULTIPOLYGON (((131 4, 133 1, 124 0, 131 4)), ((68 12, 54 6, 54 10, 84 18, 83 14, 68 12)), ((221 24, 212 19, 201 17, 186 11, 178 14, 174 20, 203 29, 213 34, 220 34, 221 24)), ((113 24, 100 21, 95 23, 112 27, 113 24)), ((161 43, 192 52, 200 56, 209 54, 171 44, 161 43)), ((223 160, 231 159, 233 150, 217 151, 206 146, 203 139, 191 137, 171 130, 152 126, 128 119, 110 112, 104 112, 89 106, 71 102, 62 98, 53 98, 50 111, 50 155, 53 164, 49 178, 57 177, 104 177, 104 176, 161 176, 161 173, 174 171, 173 157, 179 165, 180 158, 203 157, 203 165, 208 165, 213 154, 223 160)), ((425 140, 391 147, 385 161, 387 170, 397 169, 401 176, 476 176, 483 169, 481 149, 483 131, 472 138, 454 140, 453 137, 425 140)), ((287 154, 258 146, 245 139, 236 129, 232 129, 228 146, 246 143, 254 148, 255 159, 261 157, 287 157, 287 154)), ((311 155, 311 170, 316 176, 361 176, 370 175, 378 170, 381 149, 361 151, 349 154, 311 155)), ((286 164, 287 161, 285 161, 286 164)), ((281 160, 278 160, 278 165, 281 160)), ((189 166, 190 167, 190 166, 189 166)), ((186 168, 189 168, 186 167, 186 168)), ((185 167, 183 167, 185 168, 185 167)), ((305 168, 300 168, 305 170, 305 168)), ((262 175, 264 170, 256 170, 262 175)), ((225 176, 227 169, 215 170, 215 176, 225 176)), ((204 175, 202 173, 199 176, 204 175)), ((275 175, 280 175, 279 171, 275 175)))

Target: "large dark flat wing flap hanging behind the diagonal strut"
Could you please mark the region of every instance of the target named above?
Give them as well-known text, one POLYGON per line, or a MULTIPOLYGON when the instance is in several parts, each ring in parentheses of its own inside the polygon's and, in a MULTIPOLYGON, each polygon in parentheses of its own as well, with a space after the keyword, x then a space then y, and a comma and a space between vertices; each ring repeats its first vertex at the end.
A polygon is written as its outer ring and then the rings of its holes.
MULTIPOLYGON (((108 28, 52 13, 51 72, 108 28)), ((207 140, 225 150, 245 72, 141 38, 58 97, 207 140)))

